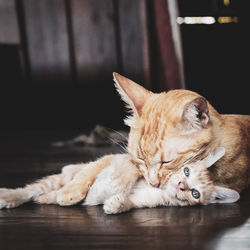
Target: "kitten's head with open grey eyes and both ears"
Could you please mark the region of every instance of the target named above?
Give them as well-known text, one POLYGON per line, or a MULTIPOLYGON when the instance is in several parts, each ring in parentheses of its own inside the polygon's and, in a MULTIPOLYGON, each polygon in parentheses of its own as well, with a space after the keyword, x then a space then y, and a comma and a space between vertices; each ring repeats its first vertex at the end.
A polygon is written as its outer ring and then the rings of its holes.
POLYGON ((238 192, 214 185, 208 168, 225 153, 223 147, 217 148, 207 157, 194 163, 185 164, 173 171, 164 189, 172 205, 207 205, 210 203, 236 202, 238 192))

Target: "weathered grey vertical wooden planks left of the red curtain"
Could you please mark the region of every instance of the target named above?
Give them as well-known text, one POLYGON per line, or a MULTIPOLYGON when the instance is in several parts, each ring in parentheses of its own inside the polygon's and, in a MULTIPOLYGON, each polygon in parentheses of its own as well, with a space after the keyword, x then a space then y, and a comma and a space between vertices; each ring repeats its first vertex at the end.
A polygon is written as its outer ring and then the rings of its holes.
POLYGON ((91 85, 111 78, 110 68, 147 85, 145 3, 1 0, 0 42, 17 50, 21 73, 36 85, 91 85))

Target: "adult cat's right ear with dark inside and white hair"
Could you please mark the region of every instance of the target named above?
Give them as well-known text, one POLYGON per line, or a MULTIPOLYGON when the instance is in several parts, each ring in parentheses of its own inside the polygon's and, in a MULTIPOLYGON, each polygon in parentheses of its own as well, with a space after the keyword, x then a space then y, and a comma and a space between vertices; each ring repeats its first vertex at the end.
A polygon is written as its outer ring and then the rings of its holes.
POLYGON ((208 103, 204 97, 197 97, 185 106, 182 122, 186 129, 204 128, 209 120, 208 103))

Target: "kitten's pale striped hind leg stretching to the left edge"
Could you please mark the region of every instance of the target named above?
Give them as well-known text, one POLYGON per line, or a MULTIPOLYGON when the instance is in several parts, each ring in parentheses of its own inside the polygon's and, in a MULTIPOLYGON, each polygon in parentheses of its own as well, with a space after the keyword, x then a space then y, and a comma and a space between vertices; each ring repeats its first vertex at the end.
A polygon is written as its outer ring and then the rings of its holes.
POLYGON ((0 209, 14 208, 25 202, 36 200, 40 195, 58 190, 65 185, 70 176, 64 174, 50 175, 24 188, 0 188, 0 209))

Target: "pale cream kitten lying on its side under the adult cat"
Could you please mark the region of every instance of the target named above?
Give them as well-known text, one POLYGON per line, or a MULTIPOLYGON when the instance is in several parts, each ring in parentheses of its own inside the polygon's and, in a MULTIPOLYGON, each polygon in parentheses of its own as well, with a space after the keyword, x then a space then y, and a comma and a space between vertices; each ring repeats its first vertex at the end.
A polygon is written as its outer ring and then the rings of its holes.
POLYGON ((218 148, 205 159, 173 171, 163 189, 151 187, 144 179, 137 181, 139 171, 130 161, 129 155, 105 156, 89 164, 66 166, 61 174, 48 176, 25 188, 0 189, 0 208, 16 207, 30 200, 42 204, 60 204, 60 188, 63 189, 69 180, 74 180, 77 173, 85 170, 87 175, 93 164, 98 165, 103 161, 106 161, 107 166, 98 174, 83 205, 104 204, 107 214, 140 207, 235 202, 239 199, 238 192, 215 186, 207 170, 224 152, 224 148, 218 148))

